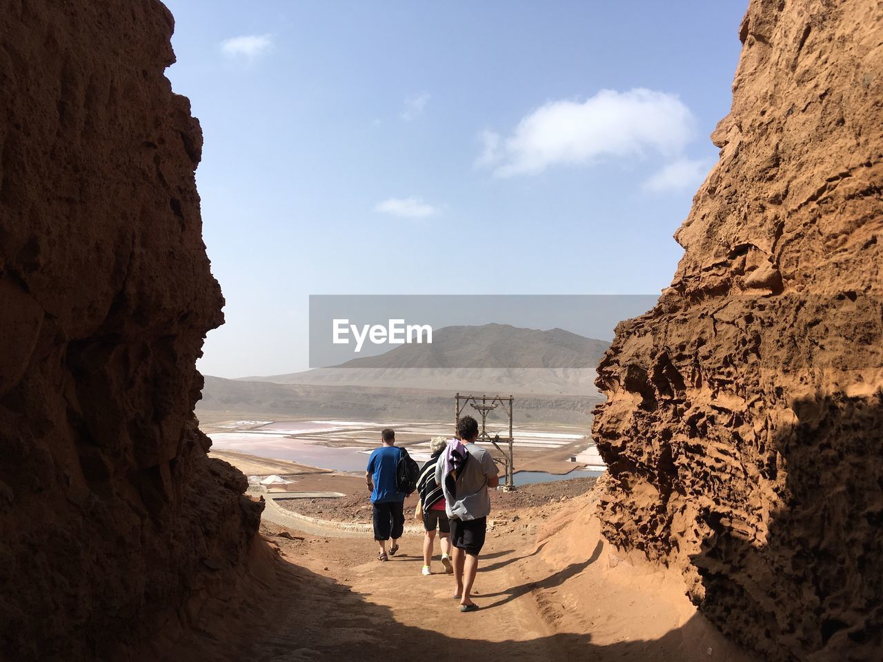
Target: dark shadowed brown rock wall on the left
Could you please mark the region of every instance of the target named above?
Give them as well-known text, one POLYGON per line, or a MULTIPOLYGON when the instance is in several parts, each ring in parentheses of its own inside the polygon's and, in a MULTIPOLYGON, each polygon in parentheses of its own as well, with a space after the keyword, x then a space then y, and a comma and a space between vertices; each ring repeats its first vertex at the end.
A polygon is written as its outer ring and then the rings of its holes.
POLYGON ((223 298, 155 0, 0 0, 0 658, 126 659, 235 581, 260 504, 206 456, 223 298))

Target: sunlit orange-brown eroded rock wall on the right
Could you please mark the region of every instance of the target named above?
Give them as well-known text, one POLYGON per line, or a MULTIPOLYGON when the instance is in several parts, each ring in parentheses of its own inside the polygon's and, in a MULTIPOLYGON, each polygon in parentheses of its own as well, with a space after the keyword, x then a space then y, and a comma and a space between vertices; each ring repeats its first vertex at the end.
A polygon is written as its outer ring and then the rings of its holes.
POLYGON ((883 8, 752 0, 720 162, 593 433, 605 535, 770 660, 879 659, 883 8))

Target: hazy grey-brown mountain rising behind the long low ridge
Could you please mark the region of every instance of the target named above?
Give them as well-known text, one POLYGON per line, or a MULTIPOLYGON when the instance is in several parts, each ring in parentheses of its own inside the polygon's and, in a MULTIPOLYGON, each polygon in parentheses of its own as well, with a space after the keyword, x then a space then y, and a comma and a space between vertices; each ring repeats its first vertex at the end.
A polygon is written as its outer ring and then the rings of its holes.
POLYGON ((593 395, 594 368, 609 344, 561 328, 541 331, 507 324, 444 327, 434 332, 432 344, 407 344, 335 367, 243 380, 593 395))

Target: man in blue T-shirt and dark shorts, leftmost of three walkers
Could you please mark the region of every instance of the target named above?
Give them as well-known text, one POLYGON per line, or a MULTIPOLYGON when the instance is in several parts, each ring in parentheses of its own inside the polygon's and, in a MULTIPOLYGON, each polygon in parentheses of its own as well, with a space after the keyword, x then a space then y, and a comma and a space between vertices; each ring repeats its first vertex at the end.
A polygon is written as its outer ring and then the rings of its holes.
POLYGON ((386 541, 392 538, 389 556, 398 552, 398 538, 404 530, 404 492, 398 491, 396 467, 402 450, 396 448, 396 433, 388 427, 381 432, 383 446, 374 448, 368 458, 365 479, 371 490, 371 505, 374 510, 374 540, 381 545, 379 560, 389 560, 386 541))

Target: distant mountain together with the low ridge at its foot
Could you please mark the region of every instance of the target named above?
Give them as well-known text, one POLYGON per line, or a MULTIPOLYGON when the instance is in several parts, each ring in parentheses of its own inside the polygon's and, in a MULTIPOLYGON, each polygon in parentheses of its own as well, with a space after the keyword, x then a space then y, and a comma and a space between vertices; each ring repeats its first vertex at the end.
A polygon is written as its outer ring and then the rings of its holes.
POLYGON ((522 421, 586 424, 601 398, 595 366, 608 342, 560 328, 445 327, 332 368, 224 380, 206 376, 198 410, 317 418, 439 420, 462 394, 515 395, 522 421))

